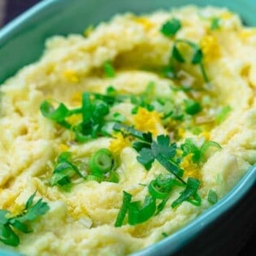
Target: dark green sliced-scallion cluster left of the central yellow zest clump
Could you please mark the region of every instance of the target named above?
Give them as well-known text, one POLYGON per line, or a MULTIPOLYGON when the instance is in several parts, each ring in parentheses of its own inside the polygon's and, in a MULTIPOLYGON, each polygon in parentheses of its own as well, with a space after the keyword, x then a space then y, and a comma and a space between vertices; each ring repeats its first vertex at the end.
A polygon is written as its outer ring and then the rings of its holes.
MULTIPOLYGON (((70 129, 75 133, 76 141, 86 142, 91 139, 108 136, 105 131, 108 123, 106 115, 110 113, 110 107, 115 102, 122 101, 115 91, 110 89, 107 94, 100 93, 82 93, 81 107, 69 110, 65 104, 59 103, 59 106, 54 108, 49 100, 41 103, 41 114, 48 119, 51 119, 64 128, 70 129), (72 115, 81 115, 82 118, 78 124, 70 124, 68 117, 72 115)), ((118 121, 118 119, 115 119, 118 121)))

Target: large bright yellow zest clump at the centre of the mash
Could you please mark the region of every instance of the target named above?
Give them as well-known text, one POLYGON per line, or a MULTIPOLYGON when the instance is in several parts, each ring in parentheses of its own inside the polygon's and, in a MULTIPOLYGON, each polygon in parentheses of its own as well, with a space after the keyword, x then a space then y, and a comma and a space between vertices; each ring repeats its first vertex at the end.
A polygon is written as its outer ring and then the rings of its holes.
POLYGON ((156 111, 148 111, 139 107, 137 114, 133 117, 134 128, 141 132, 151 132, 153 135, 158 134, 158 124, 160 124, 160 115, 156 111))

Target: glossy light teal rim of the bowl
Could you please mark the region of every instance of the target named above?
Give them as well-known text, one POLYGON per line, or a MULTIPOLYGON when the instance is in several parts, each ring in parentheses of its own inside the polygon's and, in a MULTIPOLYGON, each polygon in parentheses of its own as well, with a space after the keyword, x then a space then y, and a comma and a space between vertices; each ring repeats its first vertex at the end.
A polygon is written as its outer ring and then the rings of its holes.
MULTIPOLYGON (((16 31, 19 31, 21 26, 24 26, 34 15, 41 11, 46 11, 47 8, 50 8, 54 4, 59 4, 67 0, 43 0, 38 2, 33 7, 29 8, 27 11, 24 11, 23 14, 16 17, 14 20, 11 20, 10 23, 6 24, 0 29, 0 47, 2 42, 7 41, 8 37, 11 37, 12 34, 15 34, 16 31)), ((196 3, 194 3, 196 5, 196 3)), ((1 49, 0 49, 1 51, 1 49)), ((246 171, 245 175, 241 180, 215 205, 210 206, 207 210, 204 210, 202 214, 198 215, 195 219, 184 225, 176 232, 172 233, 170 236, 167 236, 161 241, 154 243, 144 249, 141 249, 135 253, 133 256, 154 256, 159 254, 162 248, 165 248, 166 255, 176 253, 183 245, 186 245, 193 236, 196 236, 198 233, 202 232, 204 228, 214 223, 225 212, 230 210, 232 206, 235 206, 242 197, 245 196, 245 193, 249 192, 249 189, 252 189, 256 184, 256 164, 249 168, 246 171), (168 248, 168 245, 172 245, 171 248, 168 248), (166 249, 169 250, 166 250, 166 249)), ((11 252, 9 250, 2 251, 0 244, 0 253, 1 255, 9 256, 18 256, 21 255, 18 252, 11 252)))

